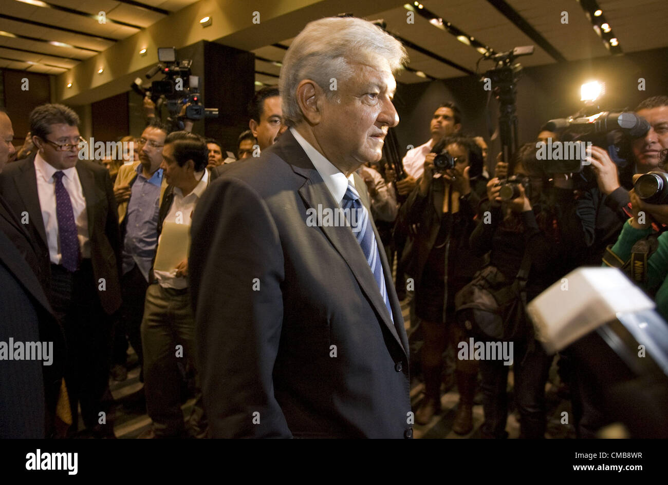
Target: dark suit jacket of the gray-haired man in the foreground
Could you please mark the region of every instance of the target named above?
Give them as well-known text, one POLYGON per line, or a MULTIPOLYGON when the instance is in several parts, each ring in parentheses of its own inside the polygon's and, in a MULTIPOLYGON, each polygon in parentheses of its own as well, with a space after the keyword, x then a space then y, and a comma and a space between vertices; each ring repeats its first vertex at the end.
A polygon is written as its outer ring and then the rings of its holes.
POLYGON ((194 211, 188 268, 214 437, 412 435, 408 343, 383 245, 373 227, 394 323, 349 227, 307 225, 319 204, 338 207, 286 131, 226 167, 194 211))

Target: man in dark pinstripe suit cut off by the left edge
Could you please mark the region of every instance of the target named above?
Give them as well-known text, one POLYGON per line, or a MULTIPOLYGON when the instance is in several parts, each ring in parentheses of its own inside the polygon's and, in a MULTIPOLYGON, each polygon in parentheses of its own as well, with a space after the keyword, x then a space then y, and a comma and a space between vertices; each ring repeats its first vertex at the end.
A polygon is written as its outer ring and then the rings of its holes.
MULTIPOLYGON (((12 137, 9 116, 0 110, 0 172, 15 152, 12 137)), ((42 360, 0 360, 0 438, 44 438, 54 431, 63 337, 37 271, 33 243, 0 195, 0 342, 51 342, 51 354, 42 360)))

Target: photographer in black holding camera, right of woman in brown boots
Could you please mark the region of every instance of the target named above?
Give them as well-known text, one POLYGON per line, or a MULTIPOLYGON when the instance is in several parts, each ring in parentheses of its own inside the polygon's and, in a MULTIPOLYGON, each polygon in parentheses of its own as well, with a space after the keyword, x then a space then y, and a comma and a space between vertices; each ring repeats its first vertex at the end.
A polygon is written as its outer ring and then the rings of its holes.
MULTIPOLYGON (((487 184, 488 219, 474 230, 470 247, 478 256, 490 252, 490 264, 508 281, 515 280, 525 254, 530 269, 526 282, 526 301, 545 290, 564 272, 562 261, 582 244, 574 216, 574 198, 565 177, 555 175, 555 187, 546 184, 536 162, 536 147, 520 147, 514 174, 518 177, 518 196, 502 201, 501 184, 494 177, 487 184)), ((552 357, 534 339, 530 324, 522 326, 514 338, 514 389, 518 404, 520 438, 543 438, 546 428, 544 388, 552 357)), ((502 360, 482 360, 485 438, 505 438, 508 402, 508 366, 502 360)))

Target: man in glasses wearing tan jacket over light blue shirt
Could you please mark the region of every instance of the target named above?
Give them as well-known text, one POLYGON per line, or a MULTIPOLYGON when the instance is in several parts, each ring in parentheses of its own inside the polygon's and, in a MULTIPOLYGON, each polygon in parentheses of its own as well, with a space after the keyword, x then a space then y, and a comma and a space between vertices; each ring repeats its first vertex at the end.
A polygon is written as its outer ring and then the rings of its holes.
MULTIPOLYGON (((120 167, 114 184, 123 245, 120 327, 137 353, 142 370, 144 355, 140 326, 149 273, 158 246, 158 211, 167 188, 167 181, 160 168, 167 132, 168 128, 160 121, 150 121, 136 147, 139 163, 120 167)), ((114 336, 112 376, 116 380, 125 380, 128 375, 125 367, 126 346, 124 335, 114 336)), ((143 381, 143 372, 140 380, 143 381)))

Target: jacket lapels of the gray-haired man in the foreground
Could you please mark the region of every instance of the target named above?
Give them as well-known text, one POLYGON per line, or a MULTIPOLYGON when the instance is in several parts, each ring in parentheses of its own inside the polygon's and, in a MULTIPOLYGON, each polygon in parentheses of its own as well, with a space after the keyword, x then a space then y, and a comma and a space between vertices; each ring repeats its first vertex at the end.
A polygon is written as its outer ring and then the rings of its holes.
MULTIPOLYGON (((299 194, 301 195, 307 207, 315 209, 316 212, 319 204, 321 207, 323 207, 323 209, 325 207, 338 209, 339 204, 334 200, 334 197, 332 197, 331 192, 327 188, 327 185, 325 185, 325 181, 323 181, 320 173, 315 169, 313 163, 311 163, 311 160, 303 151, 301 145, 299 145, 297 140, 295 140, 295 137, 293 137, 292 133, 286 131, 281 136, 286 138, 289 137, 289 141, 283 144, 281 151, 284 153, 281 153, 279 156, 290 163, 295 173, 298 173, 299 175, 302 175, 306 178, 304 185, 299 188, 299 194)), ((363 183, 361 183, 359 186, 362 187, 363 183)), ((368 202, 365 205, 368 205, 368 202)), ((306 215, 304 216, 306 217, 306 215)), ((371 213, 369 213, 369 219, 372 220, 371 213)), ((380 241, 373 221, 371 222, 371 226, 373 227, 376 241, 380 241)), ((359 246, 357 239, 355 239, 355 235, 353 235, 351 229, 349 229, 349 227, 333 227, 324 225, 319 227, 319 229, 325 233, 325 236, 327 239, 329 239, 329 242, 332 244, 332 246, 334 246, 337 252, 341 255, 341 258, 343 258, 343 260, 346 262, 351 272, 353 273, 353 276, 355 276, 355 280, 357 280, 359 287, 367 296, 373 305, 373 308, 375 308, 377 314, 381 316, 383 324, 385 324, 387 330, 389 330, 389 332, 395 338, 397 344, 401 346, 403 352, 407 354, 406 346, 404 345, 403 340, 399 338, 397 329, 392 324, 392 320, 389 316, 389 313, 387 312, 387 307, 385 306, 385 302, 383 301, 383 298, 380 294, 378 285, 375 282, 375 278, 373 278, 373 274, 371 273, 369 264, 367 263, 367 260, 364 256, 364 252, 359 246)), ((383 272, 385 273, 385 284, 387 285, 387 274, 389 269, 384 252, 381 252, 381 248, 379 248, 379 254, 381 254, 383 272)), ((393 293, 389 290, 391 287, 388 286, 387 288, 388 294, 393 293)), ((390 302, 393 302, 392 298, 390 299, 390 302)), ((391 304, 391 306, 392 308, 397 308, 393 304, 391 304)), ((401 316, 400 311, 398 312, 398 315, 395 315, 395 320, 397 320, 397 316, 401 316)), ((400 319, 399 321, 403 322, 403 319, 400 319)))

